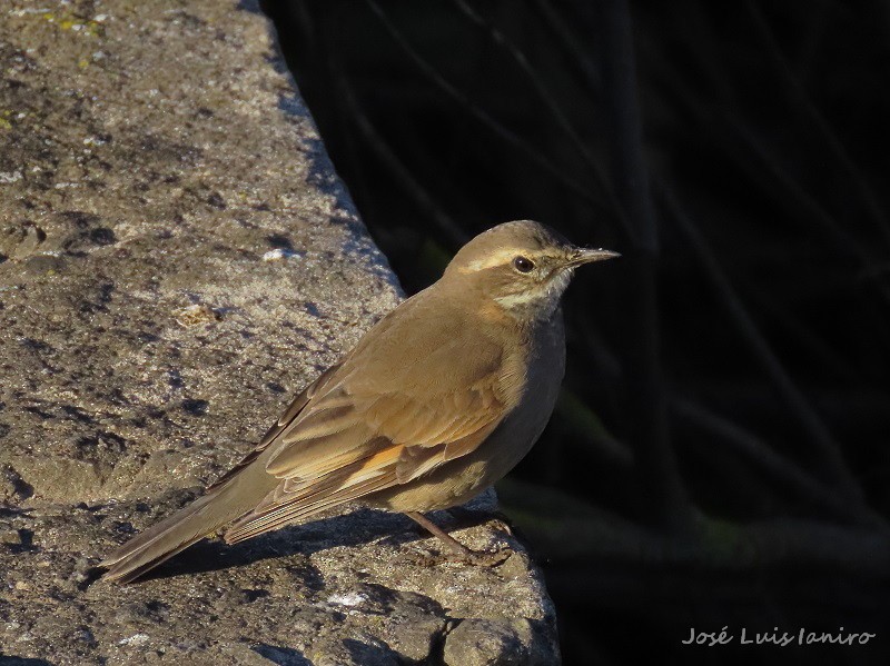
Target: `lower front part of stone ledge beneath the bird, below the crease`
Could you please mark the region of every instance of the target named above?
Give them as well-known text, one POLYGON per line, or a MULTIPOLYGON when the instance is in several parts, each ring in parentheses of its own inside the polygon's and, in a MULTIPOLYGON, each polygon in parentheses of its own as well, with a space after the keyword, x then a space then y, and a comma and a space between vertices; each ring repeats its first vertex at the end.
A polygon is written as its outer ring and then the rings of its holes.
POLYGON ((358 508, 238 546, 204 541, 136 585, 97 580, 99 555, 191 496, 0 509, 0 655, 52 664, 556 662, 540 576, 492 524, 454 534, 472 547, 512 548, 511 566, 447 561, 407 518, 358 508))

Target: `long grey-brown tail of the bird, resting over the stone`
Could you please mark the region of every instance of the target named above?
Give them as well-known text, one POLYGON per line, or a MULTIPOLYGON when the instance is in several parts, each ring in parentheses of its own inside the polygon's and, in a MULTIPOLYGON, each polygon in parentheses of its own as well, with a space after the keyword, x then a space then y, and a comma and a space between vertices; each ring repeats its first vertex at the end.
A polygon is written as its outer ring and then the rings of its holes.
POLYGON ((248 466, 189 506, 137 535, 99 564, 103 578, 129 583, 253 509, 277 479, 248 466))

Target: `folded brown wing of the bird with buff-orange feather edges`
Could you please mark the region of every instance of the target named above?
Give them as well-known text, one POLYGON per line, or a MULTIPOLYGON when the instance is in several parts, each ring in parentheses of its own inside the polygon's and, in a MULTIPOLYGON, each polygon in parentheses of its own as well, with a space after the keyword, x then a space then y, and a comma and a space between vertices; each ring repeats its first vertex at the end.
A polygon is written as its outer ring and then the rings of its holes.
MULTIPOLYGON (((437 348, 432 367, 439 354, 457 352, 454 347, 437 348)), ((518 399, 505 387, 504 378, 515 371, 505 372, 500 348, 476 344, 474 351, 473 359, 453 357, 451 365, 461 369, 425 391, 406 390, 404 378, 386 374, 369 378, 362 372, 366 366, 355 369, 347 360, 275 435, 266 471, 281 480, 228 530, 226 540, 236 543, 407 483, 473 451, 518 399)), ((407 361, 412 374, 431 367, 429 355, 408 355, 414 356, 407 361)))

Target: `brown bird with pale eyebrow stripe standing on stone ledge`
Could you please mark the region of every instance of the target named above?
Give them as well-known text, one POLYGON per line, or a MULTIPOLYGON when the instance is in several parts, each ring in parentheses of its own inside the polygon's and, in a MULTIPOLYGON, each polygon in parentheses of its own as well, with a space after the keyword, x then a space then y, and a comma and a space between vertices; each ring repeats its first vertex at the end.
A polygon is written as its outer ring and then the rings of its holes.
POLYGON ((468 501, 528 453, 564 375, 562 295, 575 268, 619 256, 532 220, 483 231, 201 497, 101 561, 103 577, 129 583, 225 527, 236 544, 355 500, 406 514, 459 559, 485 560, 424 513, 468 501))

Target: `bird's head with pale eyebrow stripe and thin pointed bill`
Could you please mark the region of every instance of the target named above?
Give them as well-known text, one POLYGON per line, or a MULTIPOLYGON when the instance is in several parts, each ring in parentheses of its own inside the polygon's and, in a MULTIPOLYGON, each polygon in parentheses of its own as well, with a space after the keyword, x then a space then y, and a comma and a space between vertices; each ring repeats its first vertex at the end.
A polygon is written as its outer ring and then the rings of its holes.
POLYGON ((515 317, 541 319, 556 309, 575 268, 619 256, 576 247, 550 227, 520 220, 476 236, 443 277, 481 291, 515 317))

